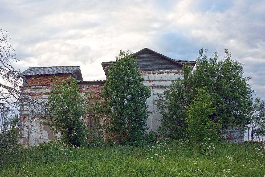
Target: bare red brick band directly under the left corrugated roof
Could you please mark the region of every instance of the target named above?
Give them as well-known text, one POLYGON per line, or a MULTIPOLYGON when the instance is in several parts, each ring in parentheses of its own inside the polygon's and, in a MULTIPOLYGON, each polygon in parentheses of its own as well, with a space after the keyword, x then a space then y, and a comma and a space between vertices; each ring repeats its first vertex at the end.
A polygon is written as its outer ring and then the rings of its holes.
MULTIPOLYGON (((68 77, 73 77, 71 74, 56 74, 55 76, 57 77, 57 80, 59 82, 62 80, 66 80, 68 77)), ((54 84, 52 82, 52 80, 53 80, 52 75, 26 76, 25 79, 27 80, 27 83, 25 83, 25 86, 54 84)))

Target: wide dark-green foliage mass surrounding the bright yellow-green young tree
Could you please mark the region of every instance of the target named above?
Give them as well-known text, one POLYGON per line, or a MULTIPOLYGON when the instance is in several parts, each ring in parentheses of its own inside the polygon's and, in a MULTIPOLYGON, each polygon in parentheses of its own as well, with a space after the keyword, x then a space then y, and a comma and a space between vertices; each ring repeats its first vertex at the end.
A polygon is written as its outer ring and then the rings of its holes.
POLYGON ((211 117, 223 127, 240 126, 246 128, 251 113, 251 94, 248 81, 245 77, 243 65, 231 58, 231 53, 225 49, 224 59, 218 60, 218 53, 208 57, 207 50, 200 49, 196 61, 196 68, 191 69, 188 65, 183 66, 183 79, 177 79, 166 88, 163 99, 164 104, 158 103, 162 114, 160 132, 173 138, 183 138, 184 120, 187 118, 185 107, 188 107, 196 89, 204 85, 206 92, 213 101, 216 110, 211 117), (176 109, 175 107, 179 107, 176 109))

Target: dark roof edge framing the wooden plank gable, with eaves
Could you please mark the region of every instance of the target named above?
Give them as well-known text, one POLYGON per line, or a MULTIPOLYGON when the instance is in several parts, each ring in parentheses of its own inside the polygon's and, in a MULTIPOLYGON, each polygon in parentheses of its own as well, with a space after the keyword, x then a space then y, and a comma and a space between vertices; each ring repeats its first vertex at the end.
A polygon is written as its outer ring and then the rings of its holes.
MULTIPOLYGON (((137 56, 137 55, 139 55, 139 54, 141 54, 141 53, 143 53, 143 52, 145 52, 145 51, 151 51, 152 53, 154 53, 154 54, 156 54, 156 55, 158 55, 158 56, 160 56, 160 57, 162 57, 162 58, 164 58, 164 59, 166 59, 166 60, 168 60, 168 61, 170 61, 170 62, 172 62, 172 63, 174 63, 174 64, 176 64, 176 65, 178 65, 178 66, 180 66, 180 67, 182 67, 183 65, 185 65, 185 64, 187 64, 187 63, 191 64, 192 67, 194 67, 194 65, 195 65, 195 63, 196 63, 195 61, 171 59, 171 58, 169 58, 169 57, 167 57, 167 56, 165 56, 165 55, 162 55, 162 54, 160 54, 160 53, 157 53, 156 51, 153 51, 153 50, 148 49, 148 48, 144 48, 144 49, 142 49, 142 50, 140 50, 140 51, 138 51, 138 52, 136 52, 136 53, 134 53, 134 54, 132 54, 132 55, 135 57, 135 56, 137 56)), ((103 67, 103 70, 104 70, 105 72, 107 72, 107 70, 108 70, 109 67, 110 67, 109 65, 110 65, 111 63, 115 63, 115 62, 116 62, 116 61, 102 62, 101 65, 102 65, 102 67, 103 67)))

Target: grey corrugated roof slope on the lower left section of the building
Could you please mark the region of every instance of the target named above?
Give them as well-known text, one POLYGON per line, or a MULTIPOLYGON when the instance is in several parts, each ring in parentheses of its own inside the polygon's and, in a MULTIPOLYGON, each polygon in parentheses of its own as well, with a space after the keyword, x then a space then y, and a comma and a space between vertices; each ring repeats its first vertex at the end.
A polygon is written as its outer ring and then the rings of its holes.
POLYGON ((21 72, 21 76, 46 75, 46 74, 63 74, 78 71, 80 66, 48 66, 48 67, 30 67, 21 72))

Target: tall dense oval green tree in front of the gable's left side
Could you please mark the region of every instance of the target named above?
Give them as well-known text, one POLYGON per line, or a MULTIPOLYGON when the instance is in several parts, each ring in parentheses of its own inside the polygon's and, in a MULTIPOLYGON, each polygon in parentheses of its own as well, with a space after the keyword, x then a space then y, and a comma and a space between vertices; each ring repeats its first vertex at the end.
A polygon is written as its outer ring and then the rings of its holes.
POLYGON ((146 100, 151 90, 143 85, 143 78, 136 67, 136 59, 131 53, 120 50, 116 63, 111 63, 101 91, 108 116, 106 128, 111 136, 117 138, 119 144, 123 135, 126 135, 132 145, 135 144, 147 129, 146 100))

